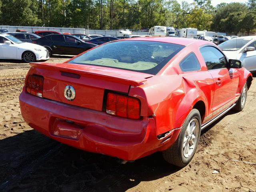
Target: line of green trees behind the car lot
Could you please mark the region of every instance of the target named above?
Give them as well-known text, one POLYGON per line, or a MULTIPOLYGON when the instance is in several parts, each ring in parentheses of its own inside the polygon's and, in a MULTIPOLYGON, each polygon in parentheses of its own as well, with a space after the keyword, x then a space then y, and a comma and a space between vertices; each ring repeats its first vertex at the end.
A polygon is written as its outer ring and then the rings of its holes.
POLYGON ((256 28, 256 0, 216 7, 211 0, 0 0, 0 24, 102 30, 160 25, 250 33, 256 28))

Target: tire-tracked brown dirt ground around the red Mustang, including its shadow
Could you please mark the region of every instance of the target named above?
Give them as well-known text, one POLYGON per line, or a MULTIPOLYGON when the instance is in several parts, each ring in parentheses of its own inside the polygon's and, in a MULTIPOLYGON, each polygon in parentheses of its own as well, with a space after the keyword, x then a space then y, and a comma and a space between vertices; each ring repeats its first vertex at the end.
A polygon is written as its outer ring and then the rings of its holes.
POLYGON ((244 110, 230 111, 204 130, 194 159, 180 169, 164 162, 161 153, 119 164, 30 128, 18 101, 29 68, 0 60, 0 191, 256 192, 255 78, 244 110))

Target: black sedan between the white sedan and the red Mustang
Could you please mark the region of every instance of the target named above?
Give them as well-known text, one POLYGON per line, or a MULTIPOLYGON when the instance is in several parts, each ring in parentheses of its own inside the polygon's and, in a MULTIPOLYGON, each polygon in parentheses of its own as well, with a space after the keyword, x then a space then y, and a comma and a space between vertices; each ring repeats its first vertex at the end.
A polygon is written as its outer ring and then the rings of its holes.
POLYGON ((52 34, 34 40, 36 44, 48 49, 49 54, 78 55, 96 44, 87 43, 72 35, 52 34))

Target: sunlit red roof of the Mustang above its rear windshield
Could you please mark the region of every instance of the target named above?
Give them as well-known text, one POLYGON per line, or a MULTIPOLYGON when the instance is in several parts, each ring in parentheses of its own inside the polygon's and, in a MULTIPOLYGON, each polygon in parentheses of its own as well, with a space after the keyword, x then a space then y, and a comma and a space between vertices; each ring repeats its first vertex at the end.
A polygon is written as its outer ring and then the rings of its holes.
MULTIPOLYGON (((180 37, 138 37, 138 38, 128 38, 123 39, 120 41, 134 41, 134 40, 140 40, 140 41, 155 41, 155 42, 164 42, 164 43, 174 43, 174 44, 180 44, 184 46, 188 46, 193 43, 197 43, 197 39, 189 39, 189 38, 180 38, 180 37)), ((209 43, 208 41, 202 41, 205 42, 204 44, 209 43)))

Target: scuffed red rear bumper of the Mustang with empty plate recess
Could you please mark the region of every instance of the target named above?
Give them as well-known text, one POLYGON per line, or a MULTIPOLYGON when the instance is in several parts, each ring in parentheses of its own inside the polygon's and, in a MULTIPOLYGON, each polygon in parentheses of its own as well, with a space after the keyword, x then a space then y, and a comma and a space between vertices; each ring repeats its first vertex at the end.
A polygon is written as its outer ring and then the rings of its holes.
POLYGON ((22 91, 20 110, 29 126, 64 144, 124 160, 136 160, 165 150, 175 142, 180 128, 163 139, 156 137, 153 118, 129 120, 22 91), (72 121, 69 123, 67 121, 72 121))

